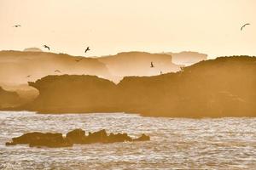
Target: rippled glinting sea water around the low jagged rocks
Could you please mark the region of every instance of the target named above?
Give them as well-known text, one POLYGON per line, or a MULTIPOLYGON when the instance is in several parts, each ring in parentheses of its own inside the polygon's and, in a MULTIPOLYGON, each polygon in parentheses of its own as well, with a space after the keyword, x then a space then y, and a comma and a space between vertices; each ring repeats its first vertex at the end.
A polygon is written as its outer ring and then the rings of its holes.
POLYGON ((166 118, 135 114, 41 115, 0 112, 0 169, 256 169, 256 118, 166 118), (147 142, 75 144, 68 148, 5 146, 23 133, 150 135, 147 142))

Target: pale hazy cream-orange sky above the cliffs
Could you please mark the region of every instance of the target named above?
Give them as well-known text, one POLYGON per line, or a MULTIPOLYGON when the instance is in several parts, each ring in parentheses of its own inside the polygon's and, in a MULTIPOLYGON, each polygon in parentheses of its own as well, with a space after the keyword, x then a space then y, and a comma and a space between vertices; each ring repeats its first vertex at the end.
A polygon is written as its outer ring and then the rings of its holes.
POLYGON ((0 0, 0 50, 256 55, 255 16, 255 0, 0 0))

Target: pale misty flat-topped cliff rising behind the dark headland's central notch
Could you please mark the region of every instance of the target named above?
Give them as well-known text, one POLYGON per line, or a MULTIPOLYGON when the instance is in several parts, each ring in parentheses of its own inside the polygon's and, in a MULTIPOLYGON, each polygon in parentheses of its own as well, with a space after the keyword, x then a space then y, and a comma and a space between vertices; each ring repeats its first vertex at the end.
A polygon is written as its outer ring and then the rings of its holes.
POLYGON ((155 76, 161 72, 179 71, 181 66, 173 64, 172 55, 169 54, 127 52, 98 59, 107 65, 111 74, 116 77, 155 76), (151 62, 154 67, 151 67, 151 62))

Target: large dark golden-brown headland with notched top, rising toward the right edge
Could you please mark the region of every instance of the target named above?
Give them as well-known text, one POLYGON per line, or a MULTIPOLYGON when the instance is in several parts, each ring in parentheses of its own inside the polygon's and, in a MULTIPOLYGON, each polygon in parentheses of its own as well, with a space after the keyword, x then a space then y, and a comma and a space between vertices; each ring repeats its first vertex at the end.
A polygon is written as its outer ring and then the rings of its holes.
POLYGON ((145 116, 256 116, 256 58, 221 57, 155 77, 52 76, 30 85, 39 112, 141 113, 145 116))

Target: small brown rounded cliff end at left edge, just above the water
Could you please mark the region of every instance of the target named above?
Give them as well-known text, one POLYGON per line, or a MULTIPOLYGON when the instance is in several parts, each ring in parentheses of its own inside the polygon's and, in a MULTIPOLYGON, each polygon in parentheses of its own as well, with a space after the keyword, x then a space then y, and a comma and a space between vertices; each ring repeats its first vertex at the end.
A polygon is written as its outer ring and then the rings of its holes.
POLYGON ((14 107, 20 103, 19 95, 9 92, 0 87, 0 109, 14 107))

